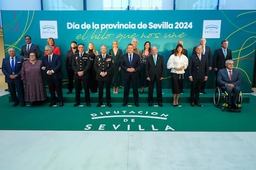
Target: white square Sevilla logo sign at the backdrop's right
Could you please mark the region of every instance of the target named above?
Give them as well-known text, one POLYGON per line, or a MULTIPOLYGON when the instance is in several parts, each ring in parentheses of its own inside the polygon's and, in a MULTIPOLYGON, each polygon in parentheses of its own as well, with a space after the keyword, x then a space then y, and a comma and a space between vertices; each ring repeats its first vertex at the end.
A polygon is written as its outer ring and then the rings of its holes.
POLYGON ((203 38, 220 38, 221 20, 203 20, 203 38))

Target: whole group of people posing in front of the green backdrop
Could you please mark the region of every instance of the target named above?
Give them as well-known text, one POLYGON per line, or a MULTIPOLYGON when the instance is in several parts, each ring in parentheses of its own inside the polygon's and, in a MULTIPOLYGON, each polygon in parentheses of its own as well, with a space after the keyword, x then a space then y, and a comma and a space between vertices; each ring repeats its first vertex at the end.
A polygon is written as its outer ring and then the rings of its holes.
MULTIPOLYGON (((55 46, 54 39, 48 38, 45 46, 45 55, 40 57, 40 49, 32 44, 30 36, 25 36, 26 45, 22 46, 20 57, 15 55, 15 49, 9 48, 9 57, 2 62, 2 72, 6 75, 13 106, 25 106, 25 102, 31 105, 38 105, 46 100, 45 80, 48 84, 51 102, 49 107, 56 106, 56 93, 58 94, 59 106, 64 105, 62 94, 62 62, 59 47, 55 46), (44 76, 45 75, 45 76, 44 76), (16 94, 17 92, 17 94, 16 94)), ((98 93, 98 104, 103 105, 103 89, 106 88, 106 105, 111 107, 111 85, 113 94, 119 92, 121 84, 121 70, 124 78, 124 101, 125 107, 129 100, 130 85, 134 97, 135 107, 139 107, 140 94, 148 87, 148 105, 153 105, 153 89, 156 84, 156 99, 158 106, 163 107, 162 80, 164 79, 164 57, 158 54, 156 46, 146 41, 144 49, 140 51, 137 47, 138 40, 132 39, 127 45, 126 53, 118 47, 118 42, 112 42, 112 49, 109 51, 105 45, 100 47, 100 53, 96 51, 92 42, 88 43, 87 51, 83 44, 72 41, 70 49, 66 54, 67 70, 67 94, 72 93, 75 84, 74 107, 81 105, 80 94, 82 89, 85 92, 85 103, 90 104, 90 91, 98 93), (75 81, 75 83, 74 83, 75 81)), ((173 106, 179 105, 179 95, 183 92, 183 81, 185 70, 188 70, 190 89, 190 105, 202 107, 199 103, 200 92, 205 93, 205 84, 208 79, 208 72, 215 70, 216 85, 229 93, 234 92, 233 100, 230 99, 229 107, 236 106, 237 91, 240 91, 241 76, 239 71, 233 68, 231 50, 228 49, 228 41, 221 42, 221 48, 211 56, 210 47, 206 46, 206 39, 202 38, 199 45, 195 46, 192 55, 188 59, 187 50, 183 47, 183 41, 178 41, 176 49, 173 49, 167 62, 167 68, 171 70, 171 85, 173 92, 173 106), (231 72, 229 71, 231 70, 231 72), (227 78, 228 77, 228 78, 227 78), (232 77, 232 78, 231 78, 232 77)))

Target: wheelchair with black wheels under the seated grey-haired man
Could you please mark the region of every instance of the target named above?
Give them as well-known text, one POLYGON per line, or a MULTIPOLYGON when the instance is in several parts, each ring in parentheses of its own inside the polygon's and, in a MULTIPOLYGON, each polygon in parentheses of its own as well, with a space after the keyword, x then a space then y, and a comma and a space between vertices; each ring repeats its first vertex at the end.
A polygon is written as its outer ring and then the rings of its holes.
POLYGON ((242 111, 242 92, 239 92, 237 108, 228 108, 228 92, 221 89, 220 86, 215 87, 215 93, 213 95, 213 103, 216 107, 220 107, 221 103, 221 110, 228 110, 228 111, 242 111))

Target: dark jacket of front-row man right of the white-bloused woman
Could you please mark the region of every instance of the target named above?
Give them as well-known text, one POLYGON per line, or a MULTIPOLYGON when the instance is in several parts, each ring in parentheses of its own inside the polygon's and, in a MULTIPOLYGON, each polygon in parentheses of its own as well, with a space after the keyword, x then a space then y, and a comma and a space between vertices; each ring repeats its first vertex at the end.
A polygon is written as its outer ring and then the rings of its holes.
POLYGON ((208 76, 208 58, 205 55, 202 55, 202 59, 199 60, 197 54, 191 55, 189 59, 189 76, 192 76, 194 79, 204 79, 205 76, 208 76))

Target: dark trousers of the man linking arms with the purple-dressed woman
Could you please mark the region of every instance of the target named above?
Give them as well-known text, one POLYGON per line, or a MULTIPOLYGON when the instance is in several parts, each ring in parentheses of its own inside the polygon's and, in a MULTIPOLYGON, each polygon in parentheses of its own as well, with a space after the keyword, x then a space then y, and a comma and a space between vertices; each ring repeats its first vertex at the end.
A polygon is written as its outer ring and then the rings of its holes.
POLYGON ((62 79, 49 78, 48 86, 49 92, 51 94, 51 102, 56 102, 55 89, 57 90, 59 102, 63 102, 62 79))

